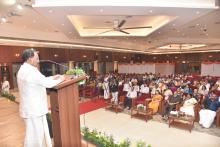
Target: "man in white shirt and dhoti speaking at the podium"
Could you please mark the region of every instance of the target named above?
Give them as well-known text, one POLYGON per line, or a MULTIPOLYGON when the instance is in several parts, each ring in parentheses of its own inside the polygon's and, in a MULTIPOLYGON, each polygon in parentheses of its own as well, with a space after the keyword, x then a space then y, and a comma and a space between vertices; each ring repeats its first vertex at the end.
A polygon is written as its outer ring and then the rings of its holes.
POLYGON ((46 114, 46 88, 64 81, 64 76, 45 77, 38 70, 39 57, 34 49, 23 51, 23 65, 17 75, 20 93, 20 116, 24 119, 26 134, 24 147, 52 147, 46 114))

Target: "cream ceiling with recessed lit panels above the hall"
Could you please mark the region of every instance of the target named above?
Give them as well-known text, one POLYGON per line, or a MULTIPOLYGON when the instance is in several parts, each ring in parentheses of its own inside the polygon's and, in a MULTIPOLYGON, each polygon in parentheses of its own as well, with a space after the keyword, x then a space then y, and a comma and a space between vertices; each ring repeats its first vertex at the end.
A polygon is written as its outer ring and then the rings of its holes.
POLYGON ((31 0, 2 0, 0 17, 5 17, 7 23, 0 24, 0 45, 86 48, 149 54, 218 51, 220 10, 217 2, 80 0, 79 3, 71 0, 35 0, 34 3, 31 0), (34 7, 31 7, 33 3, 34 7), (18 10, 17 4, 21 4, 23 10, 18 10), (114 30, 123 20, 126 21, 123 25, 126 28, 152 28, 124 30, 129 34, 114 30), (176 45, 171 50, 159 48, 170 44, 205 46, 190 50, 179 48, 181 45, 176 45))

